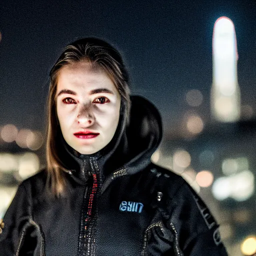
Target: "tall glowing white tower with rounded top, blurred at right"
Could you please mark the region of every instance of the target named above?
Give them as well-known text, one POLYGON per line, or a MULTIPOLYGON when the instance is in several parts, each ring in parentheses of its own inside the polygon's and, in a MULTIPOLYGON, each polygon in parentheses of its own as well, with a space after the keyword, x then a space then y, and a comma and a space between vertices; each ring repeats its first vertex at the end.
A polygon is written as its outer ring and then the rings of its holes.
POLYGON ((232 122, 240 116, 237 59, 234 24, 229 18, 220 17, 212 35, 211 113, 218 121, 232 122))

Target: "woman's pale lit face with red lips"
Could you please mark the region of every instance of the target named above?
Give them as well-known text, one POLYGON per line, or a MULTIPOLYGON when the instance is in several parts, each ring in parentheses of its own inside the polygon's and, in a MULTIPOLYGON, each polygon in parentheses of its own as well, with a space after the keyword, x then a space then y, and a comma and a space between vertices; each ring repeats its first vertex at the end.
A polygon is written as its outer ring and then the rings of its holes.
POLYGON ((120 101, 108 75, 88 62, 59 70, 57 117, 65 141, 79 153, 95 153, 110 142, 119 121, 120 101))

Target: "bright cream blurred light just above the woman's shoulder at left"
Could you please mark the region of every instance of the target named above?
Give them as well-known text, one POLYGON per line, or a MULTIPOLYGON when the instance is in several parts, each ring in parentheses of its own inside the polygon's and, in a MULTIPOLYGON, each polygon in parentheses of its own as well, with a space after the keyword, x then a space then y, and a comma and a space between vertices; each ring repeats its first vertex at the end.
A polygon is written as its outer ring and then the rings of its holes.
POLYGON ((39 158, 35 153, 27 152, 20 156, 18 174, 22 179, 32 176, 39 170, 39 158))

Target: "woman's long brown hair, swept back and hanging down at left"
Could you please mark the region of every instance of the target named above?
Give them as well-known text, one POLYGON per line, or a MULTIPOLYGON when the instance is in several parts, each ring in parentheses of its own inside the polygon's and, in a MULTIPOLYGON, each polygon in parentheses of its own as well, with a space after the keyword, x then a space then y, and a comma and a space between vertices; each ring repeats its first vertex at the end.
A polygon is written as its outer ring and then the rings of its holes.
POLYGON ((56 114, 56 87, 58 72, 70 63, 86 61, 92 67, 104 70, 121 95, 124 119, 128 123, 130 98, 128 74, 120 53, 107 42, 93 37, 82 38, 68 44, 50 70, 50 84, 47 99, 46 161, 47 183, 50 191, 59 196, 65 187, 63 171, 68 171, 57 150, 57 135, 60 131, 56 114))

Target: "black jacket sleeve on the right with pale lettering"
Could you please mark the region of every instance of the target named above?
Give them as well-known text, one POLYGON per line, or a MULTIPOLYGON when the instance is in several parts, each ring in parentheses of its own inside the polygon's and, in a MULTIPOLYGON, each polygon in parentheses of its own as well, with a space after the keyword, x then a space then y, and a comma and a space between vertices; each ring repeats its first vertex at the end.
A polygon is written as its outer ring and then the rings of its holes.
POLYGON ((227 256, 219 225, 199 195, 186 182, 173 200, 176 206, 170 228, 175 236, 174 248, 180 250, 180 255, 227 256))

